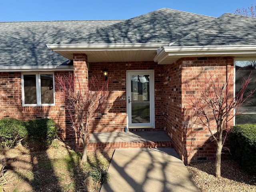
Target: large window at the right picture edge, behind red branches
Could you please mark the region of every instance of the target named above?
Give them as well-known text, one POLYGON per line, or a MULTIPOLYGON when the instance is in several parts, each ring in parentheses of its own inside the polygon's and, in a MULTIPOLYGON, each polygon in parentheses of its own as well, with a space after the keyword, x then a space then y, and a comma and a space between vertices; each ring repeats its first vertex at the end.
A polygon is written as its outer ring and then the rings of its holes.
MULTIPOLYGON (((252 72, 250 78, 251 82, 248 84, 247 92, 254 90, 256 88, 256 60, 239 60, 235 61, 235 92, 236 94, 242 87, 242 79, 248 78, 249 74, 252 72)), ((246 92, 245 92, 246 94, 246 92)), ((246 106, 238 109, 238 115, 235 117, 235 124, 246 124, 246 123, 256 123, 256 93, 252 98, 249 98, 246 106), (242 114, 239 114, 242 113, 242 114)))

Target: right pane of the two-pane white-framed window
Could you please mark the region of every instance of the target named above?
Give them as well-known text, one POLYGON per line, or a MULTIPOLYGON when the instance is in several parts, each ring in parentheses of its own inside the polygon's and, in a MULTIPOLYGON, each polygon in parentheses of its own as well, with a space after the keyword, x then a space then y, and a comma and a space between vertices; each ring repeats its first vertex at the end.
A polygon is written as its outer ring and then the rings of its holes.
POLYGON ((53 104, 53 75, 41 74, 41 102, 42 104, 53 104))

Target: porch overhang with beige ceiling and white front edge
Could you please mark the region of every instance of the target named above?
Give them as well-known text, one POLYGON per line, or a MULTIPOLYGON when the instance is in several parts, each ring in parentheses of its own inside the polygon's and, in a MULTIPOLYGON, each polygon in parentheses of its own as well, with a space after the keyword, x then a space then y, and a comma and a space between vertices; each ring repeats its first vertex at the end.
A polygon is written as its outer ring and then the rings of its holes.
POLYGON ((159 47, 170 43, 150 44, 50 44, 54 52, 73 60, 73 54, 87 55, 88 62, 154 61, 159 47))

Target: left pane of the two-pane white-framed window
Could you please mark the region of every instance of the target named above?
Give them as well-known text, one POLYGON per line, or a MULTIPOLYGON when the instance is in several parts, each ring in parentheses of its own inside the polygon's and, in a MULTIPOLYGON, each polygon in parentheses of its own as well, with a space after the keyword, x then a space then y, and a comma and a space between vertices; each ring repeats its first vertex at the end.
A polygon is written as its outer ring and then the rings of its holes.
POLYGON ((24 75, 24 104, 36 104, 36 75, 24 75))

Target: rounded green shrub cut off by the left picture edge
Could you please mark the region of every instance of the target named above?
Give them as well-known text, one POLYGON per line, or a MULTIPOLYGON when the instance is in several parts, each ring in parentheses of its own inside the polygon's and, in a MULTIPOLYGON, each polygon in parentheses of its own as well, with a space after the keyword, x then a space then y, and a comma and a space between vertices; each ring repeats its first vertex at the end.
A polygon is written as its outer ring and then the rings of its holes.
POLYGON ((12 148, 26 135, 27 130, 22 120, 14 118, 0 120, 0 148, 12 148))

